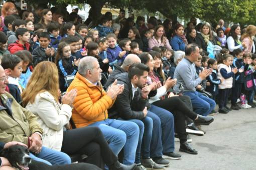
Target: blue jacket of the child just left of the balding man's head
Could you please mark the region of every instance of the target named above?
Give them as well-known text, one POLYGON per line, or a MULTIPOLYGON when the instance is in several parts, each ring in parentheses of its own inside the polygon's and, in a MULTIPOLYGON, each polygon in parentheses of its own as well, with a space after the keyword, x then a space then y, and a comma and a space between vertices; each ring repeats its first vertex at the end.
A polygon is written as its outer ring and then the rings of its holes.
POLYGON ((118 56, 121 51, 122 49, 118 44, 116 44, 114 48, 107 48, 107 58, 110 66, 117 62, 121 62, 121 58, 118 56))

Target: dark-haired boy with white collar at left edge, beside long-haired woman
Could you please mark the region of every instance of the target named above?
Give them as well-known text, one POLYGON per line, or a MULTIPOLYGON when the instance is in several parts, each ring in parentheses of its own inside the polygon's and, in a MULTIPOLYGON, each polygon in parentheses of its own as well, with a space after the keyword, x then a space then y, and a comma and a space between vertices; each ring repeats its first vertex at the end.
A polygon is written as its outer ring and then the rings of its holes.
POLYGON ((17 55, 5 54, 2 58, 1 65, 8 72, 9 91, 16 101, 20 103, 22 101, 21 93, 23 91, 19 83, 19 77, 22 73, 22 60, 17 55))

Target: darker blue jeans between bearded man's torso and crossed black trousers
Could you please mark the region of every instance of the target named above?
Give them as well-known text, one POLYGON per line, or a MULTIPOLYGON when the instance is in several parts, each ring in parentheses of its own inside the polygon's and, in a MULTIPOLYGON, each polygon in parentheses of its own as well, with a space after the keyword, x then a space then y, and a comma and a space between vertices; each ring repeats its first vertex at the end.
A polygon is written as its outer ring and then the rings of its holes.
POLYGON ((161 107, 151 104, 147 116, 153 119, 150 156, 162 156, 163 152, 174 151, 174 117, 161 107))

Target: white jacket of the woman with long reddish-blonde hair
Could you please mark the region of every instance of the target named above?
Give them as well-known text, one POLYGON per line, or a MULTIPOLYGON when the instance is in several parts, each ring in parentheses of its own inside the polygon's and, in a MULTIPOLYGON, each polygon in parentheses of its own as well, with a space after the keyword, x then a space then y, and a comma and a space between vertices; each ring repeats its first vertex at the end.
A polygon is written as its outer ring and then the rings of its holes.
POLYGON ((69 123, 72 107, 60 104, 48 91, 37 94, 34 103, 26 108, 37 116, 37 121, 44 130, 43 146, 61 150, 64 126, 69 123))

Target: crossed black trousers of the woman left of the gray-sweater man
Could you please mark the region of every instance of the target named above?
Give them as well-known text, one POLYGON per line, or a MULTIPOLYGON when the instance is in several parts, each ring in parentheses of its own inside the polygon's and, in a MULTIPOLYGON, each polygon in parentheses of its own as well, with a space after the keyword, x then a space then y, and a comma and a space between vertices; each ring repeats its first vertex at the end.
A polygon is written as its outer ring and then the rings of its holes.
POLYGON ((189 109, 185 102, 177 96, 158 100, 152 104, 167 109, 173 113, 175 132, 178 133, 181 143, 187 141, 185 115, 194 120, 197 117, 197 114, 193 110, 189 109))

